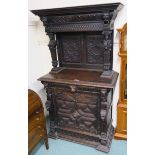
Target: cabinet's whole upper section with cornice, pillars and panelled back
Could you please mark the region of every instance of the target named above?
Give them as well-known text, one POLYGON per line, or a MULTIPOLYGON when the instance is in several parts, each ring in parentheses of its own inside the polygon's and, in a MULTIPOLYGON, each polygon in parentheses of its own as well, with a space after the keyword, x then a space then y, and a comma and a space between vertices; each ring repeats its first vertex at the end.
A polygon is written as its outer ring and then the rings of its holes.
POLYGON ((111 3, 32 10, 50 39, 52 71, 63 67, 111 71, 114 20, 121 8, 121 3, 111 3))

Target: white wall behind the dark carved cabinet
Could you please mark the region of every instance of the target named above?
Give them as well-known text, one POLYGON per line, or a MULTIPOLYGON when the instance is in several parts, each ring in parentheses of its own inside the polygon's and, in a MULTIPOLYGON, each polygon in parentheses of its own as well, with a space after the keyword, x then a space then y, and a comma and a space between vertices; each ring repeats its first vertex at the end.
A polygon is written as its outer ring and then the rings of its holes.
MULTIPOLYGON (((104 4, 121 2, 124 4, 122 10, 118 13, 115 20, 114 31, 114 53, 113 53, 113 69, 120 71, 120 58, 118 57, 118 39, 119 35, 116 31, 121 28, 127 21, 126 0, 29 0, 29 10, 70 7, 91 4, 104 4)), ((35 90, 41 97, 43 103, 46 101, 43 85, 37 81, 39 77, 48 73, 52 67, 51 56, 48 49, 48 37, 45 34, 44 27, 37 16, 29 12, 29 88, 35 90)), ((113 100, 113 125, 116 126, 116 107, 119 98, 119 80, 116 85, 113 100)))

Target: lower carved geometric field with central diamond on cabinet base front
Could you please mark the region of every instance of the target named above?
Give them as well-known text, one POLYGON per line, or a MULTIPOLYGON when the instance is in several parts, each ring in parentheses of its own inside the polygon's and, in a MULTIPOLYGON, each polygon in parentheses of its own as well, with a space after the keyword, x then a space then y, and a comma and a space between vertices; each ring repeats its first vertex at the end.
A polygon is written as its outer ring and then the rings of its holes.
POLYGON ((56 101, 58 104, 58 125, 96 133, 96 105, 69 101, 56 101))

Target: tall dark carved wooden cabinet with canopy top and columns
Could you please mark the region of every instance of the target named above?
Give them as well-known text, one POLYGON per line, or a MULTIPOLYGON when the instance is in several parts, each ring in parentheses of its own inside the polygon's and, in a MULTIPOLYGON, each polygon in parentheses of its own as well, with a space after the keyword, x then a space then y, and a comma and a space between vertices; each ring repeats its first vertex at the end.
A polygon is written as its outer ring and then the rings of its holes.
POLYGON ((41 77, 47 93, 51 138, 63 138, 108 152, 114 136, 112 100, 114 20, 120 3, 32 10, 50 38, 50 73, 41 77))

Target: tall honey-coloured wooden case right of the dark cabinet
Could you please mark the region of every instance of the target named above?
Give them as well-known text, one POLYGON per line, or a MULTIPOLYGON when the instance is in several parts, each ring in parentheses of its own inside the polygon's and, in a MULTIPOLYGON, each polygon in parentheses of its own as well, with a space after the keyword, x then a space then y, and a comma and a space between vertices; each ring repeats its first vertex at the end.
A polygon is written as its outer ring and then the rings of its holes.
POLYGON ((127 23, 120 33, 120 97, 117 105, 117 127, 115 138, 127 139, 127 23))

